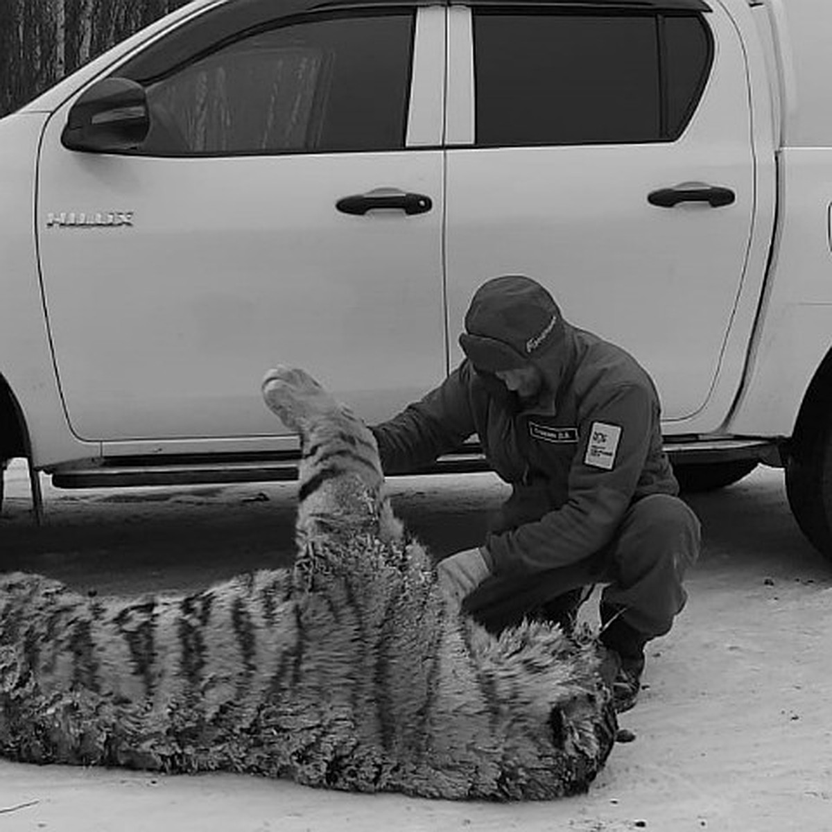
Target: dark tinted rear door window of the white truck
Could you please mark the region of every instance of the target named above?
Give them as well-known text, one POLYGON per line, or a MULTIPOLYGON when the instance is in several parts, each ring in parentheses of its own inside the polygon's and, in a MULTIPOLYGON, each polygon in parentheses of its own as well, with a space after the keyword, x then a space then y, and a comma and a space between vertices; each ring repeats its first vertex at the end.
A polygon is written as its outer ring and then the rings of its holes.
POLYGON ((673 141, 711 63, 701 17, 473 12, 478 146, 673 141))

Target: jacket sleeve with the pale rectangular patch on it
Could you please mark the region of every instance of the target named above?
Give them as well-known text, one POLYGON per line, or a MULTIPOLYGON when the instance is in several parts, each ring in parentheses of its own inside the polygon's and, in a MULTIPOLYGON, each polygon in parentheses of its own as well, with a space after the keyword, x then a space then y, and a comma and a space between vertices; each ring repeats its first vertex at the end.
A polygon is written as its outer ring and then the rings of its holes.
POLYGON ((631 503, 657 414, 644 388, 627 385, 582 415, 561 508, 486 542, 497 574, 543 572, 588 557, 612 539, 631 503))

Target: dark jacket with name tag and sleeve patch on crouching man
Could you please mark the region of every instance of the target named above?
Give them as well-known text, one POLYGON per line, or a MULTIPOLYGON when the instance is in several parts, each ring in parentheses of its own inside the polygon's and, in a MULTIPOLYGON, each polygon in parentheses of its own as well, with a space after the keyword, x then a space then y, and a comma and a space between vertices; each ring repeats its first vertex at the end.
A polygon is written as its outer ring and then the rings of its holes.
POLYGON ((466 359, 437 389, 373 428, 387 473, 412 471, 478 434, 513 487, 483 553, 495 574, 539 572, 610 542, 626 509, 676 494, 652 380, 623 349, 563 322, 533 363, 545 389, 517 408, 466 359))

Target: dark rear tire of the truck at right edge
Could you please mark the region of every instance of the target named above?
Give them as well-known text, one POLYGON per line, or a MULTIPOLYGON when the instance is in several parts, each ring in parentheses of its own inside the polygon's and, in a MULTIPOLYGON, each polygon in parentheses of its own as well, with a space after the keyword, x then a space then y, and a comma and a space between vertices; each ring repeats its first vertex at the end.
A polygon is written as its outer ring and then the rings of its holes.
POLYGON ((785 490, 800 531, 832 559, 832 425, 811 433, 789 455, 785 490))

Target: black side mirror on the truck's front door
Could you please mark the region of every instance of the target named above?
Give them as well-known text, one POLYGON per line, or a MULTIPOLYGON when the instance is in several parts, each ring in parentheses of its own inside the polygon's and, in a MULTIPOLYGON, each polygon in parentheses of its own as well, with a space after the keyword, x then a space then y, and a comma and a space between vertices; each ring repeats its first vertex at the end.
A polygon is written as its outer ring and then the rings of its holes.
POLYGON ((93 84, 69 111, 61 143, 71 151, 131 151, 150 130, 144 87, 127 78, 93 84))

